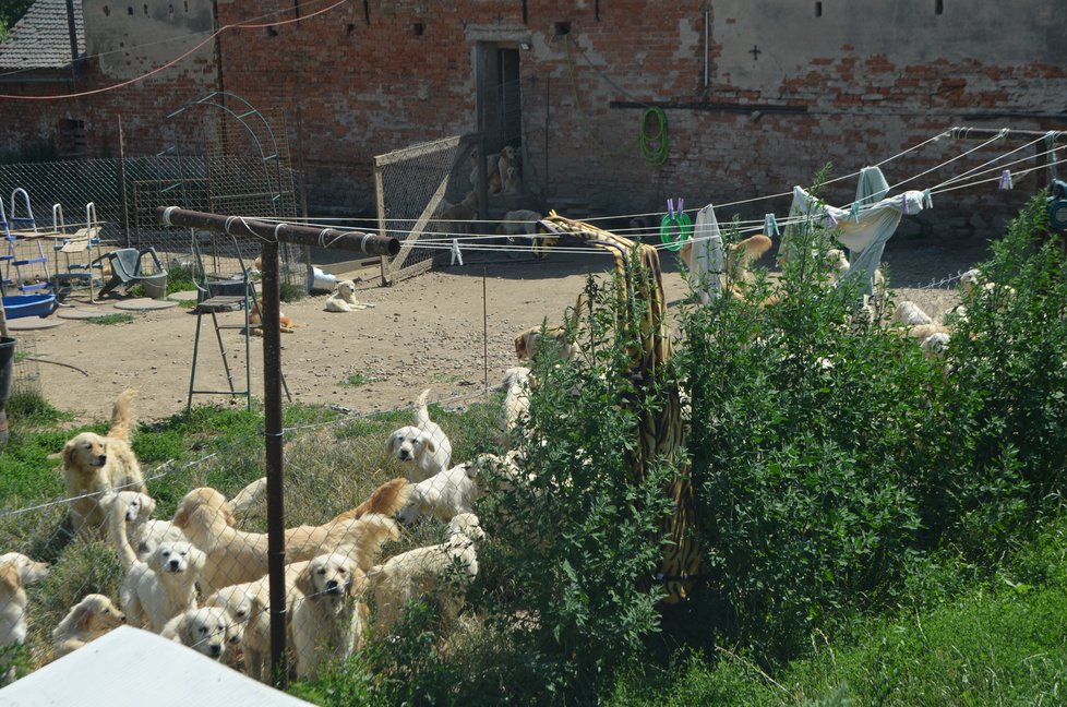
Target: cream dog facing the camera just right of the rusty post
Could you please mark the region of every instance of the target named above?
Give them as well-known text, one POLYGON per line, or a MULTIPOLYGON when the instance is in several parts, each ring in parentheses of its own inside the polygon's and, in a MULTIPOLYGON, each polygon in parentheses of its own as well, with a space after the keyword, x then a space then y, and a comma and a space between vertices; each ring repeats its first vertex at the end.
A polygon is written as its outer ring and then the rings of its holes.
POLYGON ((314 680, 331 660, 352 655, 367 623, 367 604, 359 601, 367 577, 344 553, 322 554, 308 563, 296 580, 292 602, 292 647, 297 675, 314 680))

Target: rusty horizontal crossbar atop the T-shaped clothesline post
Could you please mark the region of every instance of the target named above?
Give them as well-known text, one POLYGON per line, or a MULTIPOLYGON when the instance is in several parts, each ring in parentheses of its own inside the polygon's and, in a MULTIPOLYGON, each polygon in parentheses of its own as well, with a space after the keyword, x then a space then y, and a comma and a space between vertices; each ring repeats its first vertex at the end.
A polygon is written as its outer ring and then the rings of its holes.
POLYGON ((201 228, 231 236, 253 237, 269 243, 301 243, 334 250, 350 250, 368 255, 392 256, 400 252, 400 241, 397 238, 380 236, 379 233, 297 226, 284 221, 269 224, 243 216, 207 214, 179 208, 178 206, 156 206, 156 218, 167 226, 201 228))

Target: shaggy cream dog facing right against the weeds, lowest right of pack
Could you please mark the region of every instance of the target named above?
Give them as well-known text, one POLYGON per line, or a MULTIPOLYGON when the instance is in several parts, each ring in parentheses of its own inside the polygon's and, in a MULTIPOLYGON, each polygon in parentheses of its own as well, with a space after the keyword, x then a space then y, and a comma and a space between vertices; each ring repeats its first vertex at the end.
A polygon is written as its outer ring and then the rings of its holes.
POLYGON ((441 601, 443 619, 455 619, 463 597, 459 587, 448 586, 448 580, 458 579, 463 587, 478 575, 475 544, 484 536, 478 516, 460 513, 448 522, 447 536, 441 544, 409 550, 369 570, 367 577, 382 631, 388 631, 400 619, 408 602, 428 594, 441 601))

